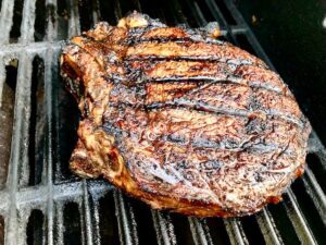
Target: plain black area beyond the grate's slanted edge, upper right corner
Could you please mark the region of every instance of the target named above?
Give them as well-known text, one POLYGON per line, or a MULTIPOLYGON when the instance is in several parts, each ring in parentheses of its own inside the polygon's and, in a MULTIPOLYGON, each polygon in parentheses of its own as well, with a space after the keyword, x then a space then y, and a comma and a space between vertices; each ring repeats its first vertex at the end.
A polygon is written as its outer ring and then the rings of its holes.
POLYGON ((326 1, 241 0, 238 9, 325 145, 326 1))

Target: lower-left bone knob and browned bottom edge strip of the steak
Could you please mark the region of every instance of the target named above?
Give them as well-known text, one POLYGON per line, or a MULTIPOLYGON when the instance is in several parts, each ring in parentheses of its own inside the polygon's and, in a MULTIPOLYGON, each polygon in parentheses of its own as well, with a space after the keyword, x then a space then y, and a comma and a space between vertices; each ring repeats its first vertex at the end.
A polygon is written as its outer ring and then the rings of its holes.
POLYGON ((170 209, 189 216, 228 217, 229 213, 220 206, 195 203, 175 195, 159 195, 147 192, 130 174, 123 156, 113 147, 114 139, 101 130, 96 130, 91 122, 85 120, 78 130, 79 139, 72 155, 70 168, 82 177, 103 175, 115 186, 136 198, 140 198, 154 209, 170 209))

